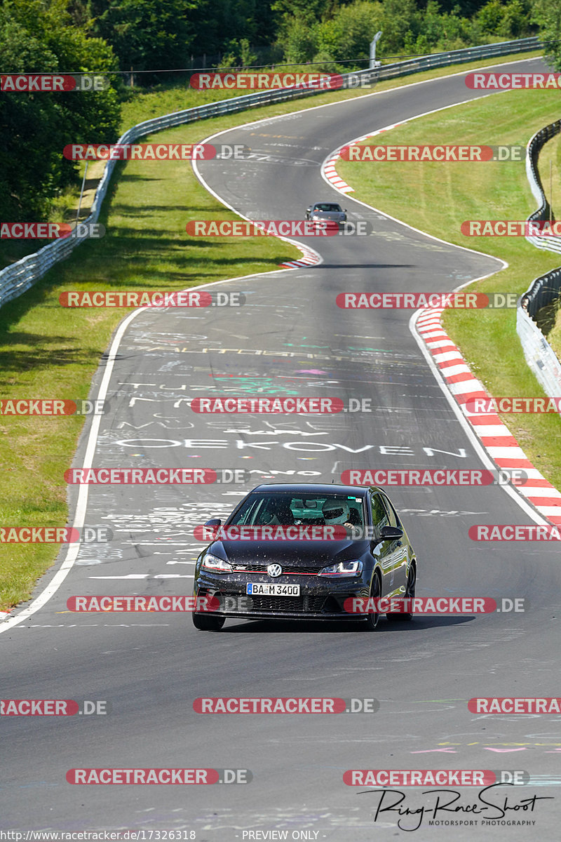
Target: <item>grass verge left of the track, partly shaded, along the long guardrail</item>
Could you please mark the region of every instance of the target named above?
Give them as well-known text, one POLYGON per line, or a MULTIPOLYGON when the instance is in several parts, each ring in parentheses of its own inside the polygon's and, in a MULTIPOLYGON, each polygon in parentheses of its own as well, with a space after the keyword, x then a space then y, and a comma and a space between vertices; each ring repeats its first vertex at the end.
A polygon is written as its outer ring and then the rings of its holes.
MULTIPOLYGON (((446 76, 450 72, 488 67, 498 61, 533 55, 538 52, 443 67, 380 83, 375 90, 397 88, 446 76)), ((180 126, 144 140, 195 143, 214 131, 241 125, 253 118, 266 119, 352 99, 364 93, 363 90, 351 90, 290 100, 180 126)), ((217 92, 199 94, 184 87, 157 91, 135 89, 124 104, 121 129, 125 131, 141 120, 225 96, 217 92)), ((69 206, 67 202, 63 204, 69 206)), ((284 260, 299 256, 295 248, 274 238, 230 240, 227 253, 219 238, 207 242, 189 240, 184 226, 194 213, 201 219, 237 218, 207 194, 188 164, 119 164, 100 219, 108 229, 106 237, 84 243, 71 258, 51 269, 32 290, 0 309, 0 395, 12 398, 87 396, 98 360, 124 311, 63 309, 58 304, 58 296, 63 290, 182 289, 273 270, 284 260)), ((54 221, 64 221, 64 218, 54 221)), ((24 246, 29 247, 29 242, 18 244, 19 248, 24 246)), ((0 264, 6 258, 5 248, 6 244, 0 244, 0 264)), ((21 256, 23 253, 19 253, 17 259, 21 256)), ((66 483, 62 475, 71 464, 82 425, 80 418, 72 417, 0 418, 0 519, 3 525, 66 524, 66 483)), ((29 598, 36 579, 54 562, 57 550, 53 545, 3 546, 0 610, 8 610, 29 598)))

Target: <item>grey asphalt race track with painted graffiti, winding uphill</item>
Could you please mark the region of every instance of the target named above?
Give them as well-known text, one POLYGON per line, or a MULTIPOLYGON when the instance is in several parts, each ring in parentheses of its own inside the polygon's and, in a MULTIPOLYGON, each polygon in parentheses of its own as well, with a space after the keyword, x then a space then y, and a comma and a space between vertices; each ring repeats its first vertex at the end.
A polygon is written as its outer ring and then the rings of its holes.
MULTIPOLYGON (((222 137, 246 143, 258 159, 204 162, 199 171, 245 216, 301 218, 310 200, 336 198, 320 164, 349 137, 477 96, 460 74, 255 121, 222 137)), ((101 419, 93 465, 241 467, 251 472, 251 486, 338 481, 351 467, 482 466, 477 443, 408 329, 410 312, 340 310, 335 299, 343 290, 451 290, 499 263, 351 198, 346 206, 352 219, 373 224, 373 234, 320 245, 315 238, 319 266, 218 287, 242 291, 246 306, 145 311, 130 319, 111 352, 111 413, 101 419), (209 418, 190 411, 188 399, 213 393, 369 398, 373 412, 209 418)), ((77 467, 87 441, 86 432, 77 467)), ((558 610, 558 552, 545 544, 468 539, 474 523, 532 522, 502 488, 396 488, 392 498, 419 557, 418 594, 524 597, 525 613, 383 620, 374 634, 230 621, 220 634, 205 634, 181 614, 68 612, 74 594, 190 593, 198 554, 193 526, 224 515, 246 488, 90 487, 85 522, 109 525, 115 539, 82 547, 50 600, 0 636, 2 695, 103 699, 112 712, 3 717, 4 826, 182 829, 211 842, 283 838, 273 830, 334 842, 402 836, 396 812, 374 823, 378 796, 345 786, 348 769, 527 770, 532 785, 522 795, 522 788, 516 797, 509 793, 512 802, 556 796, 558 717, 475 715, 467 706, 473 696, 554 695, 557 681, 558 644, 549 630, 558 610), (380 706, 376 714, 337 717, 193 711, 193 699, 217 695, 374 696, 380 706), (65 780, 75 767, 166 766, 246 768, 254 779, 218 788, 83 787, 65 780), (259 835, 244 835, 250 831, 259 835)), ((75 498, 72 491, 72 504, 75 498)), ((464 804, 472 802, 462 793, 464 804)), ((412 808, 426 799, 408 791, 412 808)), ((556 804, 537 802, 521 818, 535 820, 542 838, 553 839, 556 804)), ((529 838, 528 827, 509 831, 509 839, 529 838)), ((487 827, 485 834, 503 839, 505 828, 487 827)), ((415 838, 435 835, 425 822, 415 838)), ((474 828, 458 825, 446 835, 473 839, 474 828)))

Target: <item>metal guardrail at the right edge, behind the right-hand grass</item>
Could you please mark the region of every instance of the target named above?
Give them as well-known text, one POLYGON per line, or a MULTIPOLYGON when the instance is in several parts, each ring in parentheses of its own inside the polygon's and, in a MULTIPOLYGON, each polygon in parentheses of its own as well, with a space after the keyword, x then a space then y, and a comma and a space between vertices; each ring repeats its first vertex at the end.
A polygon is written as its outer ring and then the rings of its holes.
MULTIPOLYGON (((528 216, 528 221, 549 219, 550 207, 543 192, 542 180, 537 170, 537 158, 545 143, 561 131, 561 120, 546 125, 530 139, 526 150, 526 173, 534 198, 539 202, 537 210, 528 216)), ((526 237, 537 248, 561 253, 561 241, 553 237, 526 237)), ((541 383, 549 397, 561 396, 561 362, 547 338, 534 321, 538 310, 559 298, 561 291, 561 268, 540 275, 532 280, 516 307, 516 333, 521 341, 527 364, 541 383)))

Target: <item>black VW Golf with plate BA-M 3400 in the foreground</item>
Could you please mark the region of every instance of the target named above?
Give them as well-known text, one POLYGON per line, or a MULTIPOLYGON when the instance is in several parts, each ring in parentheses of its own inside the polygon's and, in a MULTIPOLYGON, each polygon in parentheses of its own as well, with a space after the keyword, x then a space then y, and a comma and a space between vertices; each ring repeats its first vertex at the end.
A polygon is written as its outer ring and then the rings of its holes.
POLYGON ((226 617, 360 621, 373 630, 378 612, 349 610, 353 598, 415 595, 415 552, 381 488, 259 485, 224 525, 209 520, 205 529, 214 540, 197 559, 193 592, 203 631, 219 631, 226 617))

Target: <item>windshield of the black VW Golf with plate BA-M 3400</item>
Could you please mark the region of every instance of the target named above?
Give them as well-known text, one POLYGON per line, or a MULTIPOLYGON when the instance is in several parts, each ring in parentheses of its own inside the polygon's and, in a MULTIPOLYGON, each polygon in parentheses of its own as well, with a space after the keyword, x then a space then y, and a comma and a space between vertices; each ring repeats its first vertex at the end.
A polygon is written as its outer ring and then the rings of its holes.
POLYGON ((363 500, 347 494, 251 494, 228 525, 318 525, 350 523, 363 526, 363 500))

